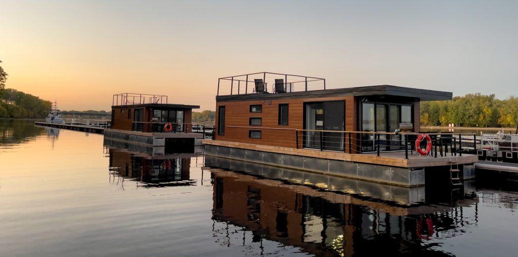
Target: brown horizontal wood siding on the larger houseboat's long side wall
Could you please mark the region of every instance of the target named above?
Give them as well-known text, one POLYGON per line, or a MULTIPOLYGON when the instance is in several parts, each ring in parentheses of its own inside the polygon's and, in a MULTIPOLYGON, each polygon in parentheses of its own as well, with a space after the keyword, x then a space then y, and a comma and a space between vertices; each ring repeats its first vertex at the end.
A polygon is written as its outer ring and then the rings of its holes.
MULTIPOLYGON (((215 133, 215 140, 296 148, 295 129, 304 128, 304 103, 344 101, 345 130, 356 130, 353 96, 325 98, 284 98, 272 100, 218 101, 216 110, 225 106, 225 134, 215 133), (279 125, 279 104, 289 104, 288 125, 279 125), (262 105, 261 113, 250 113, 250 105, 262 105), (261 126, 250 126, 251 117, 262 118, 261 126), (261 139, 249 138, 249 130, 261 130, 261 139)), ((219 113, 216 113, 219 120, 219 113)), ((218 126, 218 123, 216 124, 218 126)), ((299 142, 302 139, 299 134, 299 142)))

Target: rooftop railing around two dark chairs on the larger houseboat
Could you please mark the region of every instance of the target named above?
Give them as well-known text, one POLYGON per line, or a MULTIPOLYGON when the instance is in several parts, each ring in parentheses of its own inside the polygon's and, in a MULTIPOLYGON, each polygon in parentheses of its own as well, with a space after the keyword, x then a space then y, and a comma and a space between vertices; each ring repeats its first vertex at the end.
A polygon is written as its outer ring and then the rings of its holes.
POLYGON ((275 94, 325 89, 325 79, 258 72, 218 79, 218 96, 275 94))

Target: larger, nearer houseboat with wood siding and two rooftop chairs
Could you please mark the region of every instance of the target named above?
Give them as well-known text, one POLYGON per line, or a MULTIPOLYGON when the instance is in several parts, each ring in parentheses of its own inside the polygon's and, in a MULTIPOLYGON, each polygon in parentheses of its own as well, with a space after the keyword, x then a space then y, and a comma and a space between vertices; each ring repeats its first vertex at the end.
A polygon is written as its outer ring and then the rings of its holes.
MULTIPOLYGON (((329 89, 325 79, 304 75, 224 77, 206 154, 405 187, 444 173, 461 185, 474 177, 476 153, 466 154, 450 134, 420 129, 421 101, 451 99, 451 92, 392 85, 329 89)), ((473 138, 458 136, 464 145, 473 138)))

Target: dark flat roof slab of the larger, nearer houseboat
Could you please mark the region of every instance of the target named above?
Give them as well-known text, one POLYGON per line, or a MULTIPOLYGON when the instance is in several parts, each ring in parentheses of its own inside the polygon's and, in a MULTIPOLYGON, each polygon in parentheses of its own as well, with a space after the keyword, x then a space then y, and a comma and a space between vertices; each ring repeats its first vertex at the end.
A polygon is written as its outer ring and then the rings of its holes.
POLYGON ((444 92, 437 90, 419 89, 403 86, 378 85, 378 86, 360 86, 323 90, 311 90, 291 93, 255 93, 241 95, 216 96, 216 100, 248 100, 248 99, 268 99, 268 98, 316 98, 330 96, 395 96, 408 97, 419 101, 443 101, 451 100, 452 92, 444 92))

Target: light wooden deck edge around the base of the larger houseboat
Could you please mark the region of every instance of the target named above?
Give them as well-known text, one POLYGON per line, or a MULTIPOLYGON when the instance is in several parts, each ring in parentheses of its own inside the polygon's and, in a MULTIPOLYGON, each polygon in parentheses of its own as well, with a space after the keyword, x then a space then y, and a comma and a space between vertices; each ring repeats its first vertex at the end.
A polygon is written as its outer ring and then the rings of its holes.
POLYGON ((378 164, 378 165, 386 165, 386 166, 400 167, 400 168, 425 168, 425 167, 449 166, 452 162, 454 164, 468 164, 468 163, 474 163, 474 162, 478 161, 478 156, 467 155, 467 154, 464 154, 463 156, 448 155, 448 156, 438 157, 438 158, 434 158, 431 156, 426 158, 426 157, 419 157, 414 152, 413 155, 411 155, 409 153, 408 159, 405 159, 405 152, 382 152, 382 153, 380 153, 380 156, 377 156, 376 153, 347 154, 347 153, 342 153, 342 152, 328 152, 328 151, 320 151, 320 150, 314 150, 314 149, 296 149, 296 148, 279 147, 279 146, 245 144, 245 143, 218 141, 218 140, 210 140, 210 139, 204 139, 202 142, 203 142, 203 144, 207 144, 207 145, 234 147, 234 148, 241 148, 241 149, 248 149, 248 150, 256 150, 256 151, 287 154, 287 155, 297 155, 297 156, 305 156, 305 157, 314 157, 314 158, 321 158, 321 159, 378 164))

